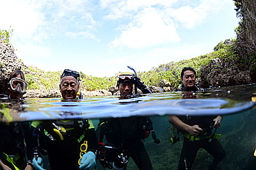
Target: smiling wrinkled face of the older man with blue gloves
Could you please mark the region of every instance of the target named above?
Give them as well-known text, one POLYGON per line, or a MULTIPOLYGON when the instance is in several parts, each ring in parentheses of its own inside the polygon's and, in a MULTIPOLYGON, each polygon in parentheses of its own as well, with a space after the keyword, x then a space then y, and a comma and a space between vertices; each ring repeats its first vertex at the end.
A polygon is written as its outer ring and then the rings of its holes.
POLYGON ((63 99, 76 99, 78 84, 73 76, 65 76, 62 78, 60 92, 63 99))

